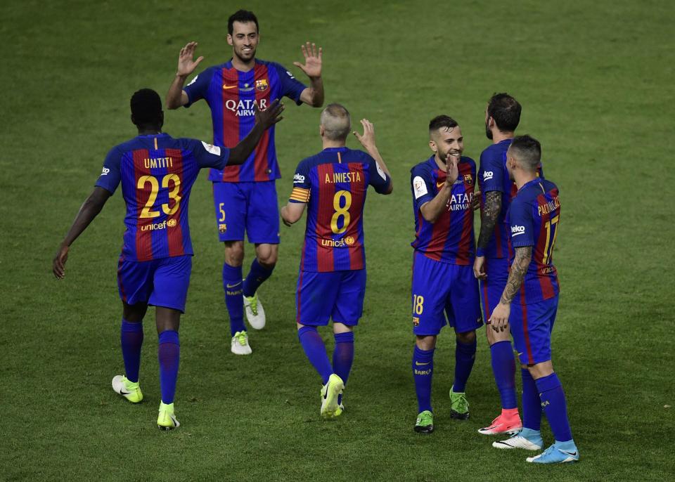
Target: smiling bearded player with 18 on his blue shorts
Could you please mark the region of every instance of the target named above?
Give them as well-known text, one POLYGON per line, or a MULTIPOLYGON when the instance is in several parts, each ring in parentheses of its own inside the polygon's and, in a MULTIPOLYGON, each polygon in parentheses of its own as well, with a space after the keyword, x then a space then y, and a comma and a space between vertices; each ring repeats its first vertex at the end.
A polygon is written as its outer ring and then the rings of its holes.
POLYGON ((446 115, 429 123, 433 155, 411 169, 415 241, 412 243, 412 318, 416 344, 413 377, 418 400, 415 431, 434 430, 431 386, 436 338, 448 323, 456 334, 455 379, 450 415, 468 419, 465 385, 476 354, 476 329, 482 325, 474 258, 473 196, 476 164, 463 157, 464 138, 446 115))

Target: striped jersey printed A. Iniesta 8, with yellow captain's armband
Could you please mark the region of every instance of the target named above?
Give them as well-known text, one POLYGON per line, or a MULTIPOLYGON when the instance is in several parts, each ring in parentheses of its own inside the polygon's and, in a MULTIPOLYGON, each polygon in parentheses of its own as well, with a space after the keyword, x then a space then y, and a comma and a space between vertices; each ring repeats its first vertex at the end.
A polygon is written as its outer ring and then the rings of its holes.
POLYGON ((327 148, 302 160, 290 202, 307 203, 301 271, 347 271, 366 267, 363 214, 366 190, 387 193, 390 178, 362 150, 327 148))

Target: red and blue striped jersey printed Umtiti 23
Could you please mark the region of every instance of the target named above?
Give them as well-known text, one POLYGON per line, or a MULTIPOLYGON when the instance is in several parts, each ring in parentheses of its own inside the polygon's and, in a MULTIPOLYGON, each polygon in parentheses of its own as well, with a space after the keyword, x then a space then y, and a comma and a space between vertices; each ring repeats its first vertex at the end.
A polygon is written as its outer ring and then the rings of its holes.
POLYGON ((98 187, 127 204, 122 257, 149 261, 193 254, 188 225, 192 185, 203 167, 222 169, 230 151, 168 134, 138 136, 108 152, 98 187))

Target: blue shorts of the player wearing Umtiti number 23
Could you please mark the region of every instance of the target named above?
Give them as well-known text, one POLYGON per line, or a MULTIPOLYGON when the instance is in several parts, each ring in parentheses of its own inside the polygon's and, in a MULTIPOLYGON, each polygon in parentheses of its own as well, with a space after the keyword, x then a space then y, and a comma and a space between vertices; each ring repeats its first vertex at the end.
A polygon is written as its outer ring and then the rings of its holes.
POLYGON ((150 261, 124 261, 117 265, 117 288, 124 303, 164 306, 185 313, 192 256, 150 261))

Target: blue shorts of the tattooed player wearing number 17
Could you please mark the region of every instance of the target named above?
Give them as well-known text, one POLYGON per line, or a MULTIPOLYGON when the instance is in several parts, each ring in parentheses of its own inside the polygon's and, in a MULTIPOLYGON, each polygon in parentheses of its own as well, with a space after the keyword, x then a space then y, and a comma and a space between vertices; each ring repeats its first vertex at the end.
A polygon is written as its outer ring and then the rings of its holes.
POLYGON ((557 312, 557 294, 539 303, 511 304, 508 324, 520 363, 534 365, 551 360, 551 332, 557 312))

